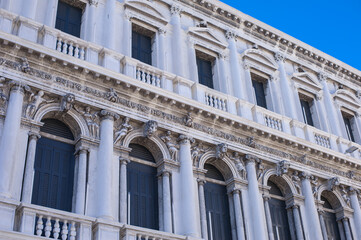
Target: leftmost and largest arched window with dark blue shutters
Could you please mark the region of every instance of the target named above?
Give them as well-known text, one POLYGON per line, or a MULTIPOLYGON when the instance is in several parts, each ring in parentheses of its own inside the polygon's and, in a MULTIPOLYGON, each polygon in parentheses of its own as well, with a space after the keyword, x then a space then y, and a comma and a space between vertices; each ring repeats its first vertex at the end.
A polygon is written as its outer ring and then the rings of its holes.
POLYGON ((32 203, 64 211, 72 210, 74 136, 56 119, 43 120, 36 146, 32 203))

